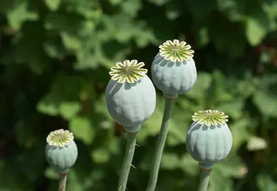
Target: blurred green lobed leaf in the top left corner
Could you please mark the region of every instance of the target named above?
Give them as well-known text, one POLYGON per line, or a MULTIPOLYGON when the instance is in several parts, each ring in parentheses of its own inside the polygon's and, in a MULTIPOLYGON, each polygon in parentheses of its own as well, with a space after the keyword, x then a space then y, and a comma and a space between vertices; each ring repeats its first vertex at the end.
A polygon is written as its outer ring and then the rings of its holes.
POLYGON ((37 12, 28 9, 28 1, 17 3, 7 14, 10 27, 19 30, 24 21, 35 21, 39 18, 37 12))

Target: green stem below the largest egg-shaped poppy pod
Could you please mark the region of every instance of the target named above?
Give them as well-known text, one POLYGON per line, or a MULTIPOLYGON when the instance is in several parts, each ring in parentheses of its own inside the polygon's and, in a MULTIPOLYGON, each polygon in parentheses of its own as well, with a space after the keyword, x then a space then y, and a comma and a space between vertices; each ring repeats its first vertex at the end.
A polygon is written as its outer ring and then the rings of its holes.
POLYGON ((118 191, 126 190, 129 170, 132 165, 134 149, 136 147, 136 134, 127 134, 127 145, 124 156, 124 161, 121 169, 120 179, 118 181, 118 191))

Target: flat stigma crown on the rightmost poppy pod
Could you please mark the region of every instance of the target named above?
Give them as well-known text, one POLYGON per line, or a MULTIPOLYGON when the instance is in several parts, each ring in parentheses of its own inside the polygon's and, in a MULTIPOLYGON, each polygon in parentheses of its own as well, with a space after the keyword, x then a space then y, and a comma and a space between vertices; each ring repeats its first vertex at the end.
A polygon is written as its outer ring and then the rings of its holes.
POLYGON ((228 116, 220 111, 208 109, 206 111, 195 112, 192 116, 193 121, 205 125, 222 125, 228 121, 228 116))

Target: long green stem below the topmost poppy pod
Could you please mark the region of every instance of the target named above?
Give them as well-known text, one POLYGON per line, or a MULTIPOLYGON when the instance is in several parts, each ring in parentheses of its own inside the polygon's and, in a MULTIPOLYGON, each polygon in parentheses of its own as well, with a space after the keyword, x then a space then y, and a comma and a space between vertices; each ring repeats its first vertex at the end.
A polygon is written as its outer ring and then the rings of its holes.
POLYGON ((170 125, 170 118, 173 110, 174 99, 166 98, 166 105, 163 111, 163 121, 161 122, 161 130, 154 153, 154 161, 150 172, 150 179, 146 191, 154 191, 158 181, 159 168, 161 164, 161 157, 163 156, 163 148, 166 144, 166 137, 168 136, 168 127, 170 125))

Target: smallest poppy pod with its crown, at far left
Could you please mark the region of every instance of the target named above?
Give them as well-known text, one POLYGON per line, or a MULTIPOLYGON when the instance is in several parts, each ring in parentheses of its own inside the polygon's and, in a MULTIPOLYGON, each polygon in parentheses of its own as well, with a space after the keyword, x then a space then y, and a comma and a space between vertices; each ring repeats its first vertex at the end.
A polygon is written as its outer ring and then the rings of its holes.
POLYGON ((62 174, 69 172, 78 156, 77 145, 73 138, 71 132, 59 129, 52 131, 46 139, 46 159, 51 167, 62 174))

